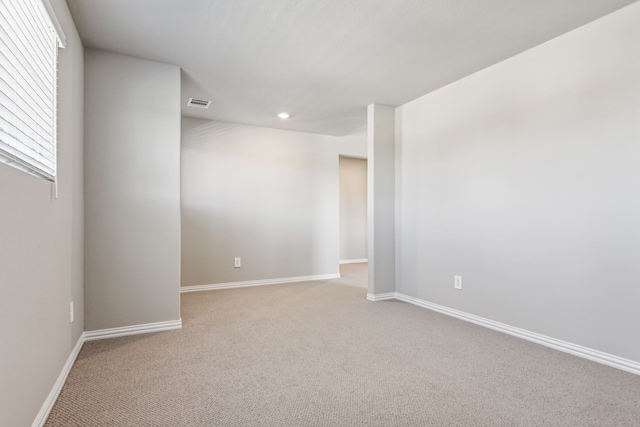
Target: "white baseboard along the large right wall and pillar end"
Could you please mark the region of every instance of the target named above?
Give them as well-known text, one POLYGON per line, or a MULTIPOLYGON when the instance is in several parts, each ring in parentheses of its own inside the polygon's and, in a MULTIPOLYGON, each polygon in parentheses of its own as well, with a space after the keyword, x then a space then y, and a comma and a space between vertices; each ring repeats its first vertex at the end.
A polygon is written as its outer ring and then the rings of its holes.
POLYGON ((625 359, 622 357, 614 356, 613 354, 604 353, 592 348, 583 347, 578 344, 573 344, 567 341, 562 341, 556 338, 548 337, 546 335, 531 332, 526 329, 517 328, 515 326, 507 325, 504 323, 496 322, 494 320, 485 319, 484 317, 476 316, 474 314, 465 313, 464 311, 455 310, 453 308, 445 307, 442 305, 434 304, 419 298, 415 298, 409 295, 402 294, 400 292, 389 292, 385 294, 367 294, 367 299, 370 301, 381 301, 385 299, 395 298, 399 301, 408 302, 409 304, 417 305, 438 313, 446 314, 447 316, 456 317, 467 322, 475 323, 476 325, 484 326, 485 328, 493 329, 495 331, 503 332, 505 334, 512 335, 514 337, 522 338, 527 341, 534 342, 536 344, 550 347, 564 353, 569 353, 574 356, 581 357, 583 359, 591 360, 593 362, 601 363, 603 365, 611 366, 613 368, 621 369, 623 371, 631 372, 632 374, 640 375, 640 363, 633 360, 625 359), (391 297, 390 295, 393 294, 391 297))

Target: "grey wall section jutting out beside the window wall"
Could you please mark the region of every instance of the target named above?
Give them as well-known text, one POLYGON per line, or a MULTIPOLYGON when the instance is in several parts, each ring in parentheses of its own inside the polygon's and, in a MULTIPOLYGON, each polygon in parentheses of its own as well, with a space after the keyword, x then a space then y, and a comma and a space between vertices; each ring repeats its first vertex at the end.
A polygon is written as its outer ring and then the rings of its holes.
POLYGON ((180 69, 85 51, 86 330, 180 318, 180 69))

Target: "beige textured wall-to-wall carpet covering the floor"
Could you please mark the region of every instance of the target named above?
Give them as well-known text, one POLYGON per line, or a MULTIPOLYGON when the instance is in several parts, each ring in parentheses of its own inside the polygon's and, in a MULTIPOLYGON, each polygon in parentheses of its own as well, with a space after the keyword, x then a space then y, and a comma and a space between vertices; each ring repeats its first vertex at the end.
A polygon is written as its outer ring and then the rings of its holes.
POLYGON ((46 425, 640 425, 640 377, 345 273, 183 294, 182 330, 85 344, 46 425))

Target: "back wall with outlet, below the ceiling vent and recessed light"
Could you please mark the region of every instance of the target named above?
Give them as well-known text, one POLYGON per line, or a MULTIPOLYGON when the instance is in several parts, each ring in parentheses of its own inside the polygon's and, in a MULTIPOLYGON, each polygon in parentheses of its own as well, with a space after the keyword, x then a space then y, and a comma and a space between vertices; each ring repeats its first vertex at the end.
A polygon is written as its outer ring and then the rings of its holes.
POLYGON ((337 274, 340 155, 366 157, 365 133, 184 118, 182 285, 337 274))

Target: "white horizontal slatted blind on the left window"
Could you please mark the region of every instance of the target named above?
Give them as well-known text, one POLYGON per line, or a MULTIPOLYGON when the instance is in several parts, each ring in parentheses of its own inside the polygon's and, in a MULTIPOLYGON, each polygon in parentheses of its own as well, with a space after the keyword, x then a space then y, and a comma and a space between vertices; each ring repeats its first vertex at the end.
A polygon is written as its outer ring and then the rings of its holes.
POLYGON ((0 160, 56 177, 58 34, 42 0, 0 0, 0 160))

